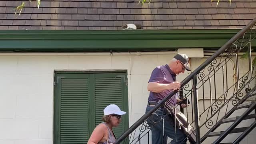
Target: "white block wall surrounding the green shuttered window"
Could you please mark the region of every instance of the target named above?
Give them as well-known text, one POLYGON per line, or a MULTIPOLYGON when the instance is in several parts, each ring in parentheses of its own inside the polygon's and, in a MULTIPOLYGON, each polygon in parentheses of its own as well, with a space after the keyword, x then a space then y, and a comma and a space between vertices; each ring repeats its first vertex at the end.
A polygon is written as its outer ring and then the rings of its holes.
MULTIPOLYGON (((0 144, 53 144, 54 70, 127 70, 129 123, 133 124, 145 112, 152 70, 168 63, 175 53, 0 54, 0 144)), ((192 58, 192 70, 204 60, 192 58)), ((244 144, 252 144, 255 136, 254 130, 244 144)))

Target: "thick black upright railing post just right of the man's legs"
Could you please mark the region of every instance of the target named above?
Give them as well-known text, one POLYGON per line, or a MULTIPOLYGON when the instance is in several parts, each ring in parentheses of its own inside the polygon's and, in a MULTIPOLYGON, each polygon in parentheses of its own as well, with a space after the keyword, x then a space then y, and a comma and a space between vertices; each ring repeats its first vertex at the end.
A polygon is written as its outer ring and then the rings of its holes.
POLYGON ((195 111, 195 125, 196 125, 196 144, 201 144, 200 141, 200 127, 199 127, 199 112, 198 112, 198 93, 197 93, 197 77, 193 77, 193 92, 194 92, 194 111, 195 111))

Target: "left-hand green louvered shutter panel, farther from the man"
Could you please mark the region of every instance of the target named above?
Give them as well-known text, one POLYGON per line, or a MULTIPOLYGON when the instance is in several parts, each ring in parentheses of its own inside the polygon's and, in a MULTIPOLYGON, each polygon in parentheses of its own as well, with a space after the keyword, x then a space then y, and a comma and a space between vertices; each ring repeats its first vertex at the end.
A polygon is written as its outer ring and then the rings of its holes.
POLYGON ((88 74, 57 74, 55 144, 86 144, 88 131, 88 74), (57 110, 57 109, 56 109, 57 110))

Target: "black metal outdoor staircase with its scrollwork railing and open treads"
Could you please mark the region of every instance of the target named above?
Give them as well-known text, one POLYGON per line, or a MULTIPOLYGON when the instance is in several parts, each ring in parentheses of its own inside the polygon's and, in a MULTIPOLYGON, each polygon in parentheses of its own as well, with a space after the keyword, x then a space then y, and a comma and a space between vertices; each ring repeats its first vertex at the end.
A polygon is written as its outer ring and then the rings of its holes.
POLYGON ((253 73, 251 56, 251 42, 256 41, 255 24, 256 18, 185 78, 181 82, 180 91, 173 91, 166 96, 126 130, 114 144, 150 144, 150 127, 146 119, 177 92, 184 100, 190 99, 190 106, 182 111, 194 127, 197 144, 208 139, 212 144, 239 144, 256 127, 256 74, 253 73), (246 51, 248 71, 240 76, 238 54, 246 51), (228 76, 230 64, 234 65, 232 78, 228 76), (222 80, 216 81, 217 77, 222 80), (229 81, 233 78, 234 82, 230 85, 229 81), (198 95, 202 99, 198 99, 198 95), (198 103, 201 107, 198 107, 198 103), (225 125, 226 129, 223 129, 225 125), (232 134, 238 136, 227 141, 226 138, 232 134))

